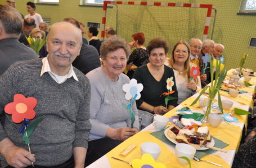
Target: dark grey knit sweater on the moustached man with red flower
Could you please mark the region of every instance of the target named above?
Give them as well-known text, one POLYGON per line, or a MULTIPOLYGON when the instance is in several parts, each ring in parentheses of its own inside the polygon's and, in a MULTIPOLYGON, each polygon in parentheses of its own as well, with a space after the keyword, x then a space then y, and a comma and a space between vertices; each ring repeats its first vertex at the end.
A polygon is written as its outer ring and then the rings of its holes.
MULTIPOLYGON (((41 68, 42 59, 16 62, 0 77, 0 114, 15 94, 35 97, 38 102, 33 120, 42 115, 44 119, 29 138, 36 159, 34 164, 56 166, 69 160, 74 147, 88 147, 91 88, 88 78, 76 68, 79 82, 71 77, 61 84, 49 73, 40 77, 41 68)), ((12 122, 11 115, 6 114, 4 126, 0 125, 0 141, 8 137, 16 146, 28 150, 19 133, 21 125, 12 122)), ((1 164, 7 165, 2 156, 1 164)))

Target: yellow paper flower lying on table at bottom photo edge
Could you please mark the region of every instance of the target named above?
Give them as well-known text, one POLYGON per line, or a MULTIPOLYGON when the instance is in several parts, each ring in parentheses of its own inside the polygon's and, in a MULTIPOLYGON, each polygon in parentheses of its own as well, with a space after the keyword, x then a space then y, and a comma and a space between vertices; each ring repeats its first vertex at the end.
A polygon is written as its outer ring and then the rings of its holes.
POLYGON ((155 162, 154 158, 149 154, 145 153, 141 159, 134 159, 132 161, 133 168, 166 168, 166 166, 160 162, 155 162))

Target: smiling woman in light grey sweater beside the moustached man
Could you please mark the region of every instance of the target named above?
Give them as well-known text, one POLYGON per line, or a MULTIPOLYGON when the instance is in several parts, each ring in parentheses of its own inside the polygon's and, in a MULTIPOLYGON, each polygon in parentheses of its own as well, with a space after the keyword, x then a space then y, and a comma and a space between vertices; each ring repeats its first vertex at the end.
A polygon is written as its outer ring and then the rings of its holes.
POLYGON ((87 73, 91 83, 89 144, 86 166, 112 150, 125 139, 138 132, 138 111, 136 102, 132 105, 135 115, 134 128, 127 108, 123 85, 129 78, 123 74, 129 55, 129 46, 123 39, 109 38, 100 48, 102 67, 87 73))

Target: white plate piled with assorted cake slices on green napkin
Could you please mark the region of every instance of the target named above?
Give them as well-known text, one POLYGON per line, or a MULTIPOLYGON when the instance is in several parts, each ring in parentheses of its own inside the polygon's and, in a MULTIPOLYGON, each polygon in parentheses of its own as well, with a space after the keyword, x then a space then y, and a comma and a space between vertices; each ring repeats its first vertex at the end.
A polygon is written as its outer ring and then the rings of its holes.
POLYGON ((196 150, 207 150, 206 146, 214 146, 214 139, 210 135, 208 127, 201 127, 185 118, 182 118, 181 121, 173 122, 169 128, 165 129, 164 135, 175 144, 190 144, 196 150))

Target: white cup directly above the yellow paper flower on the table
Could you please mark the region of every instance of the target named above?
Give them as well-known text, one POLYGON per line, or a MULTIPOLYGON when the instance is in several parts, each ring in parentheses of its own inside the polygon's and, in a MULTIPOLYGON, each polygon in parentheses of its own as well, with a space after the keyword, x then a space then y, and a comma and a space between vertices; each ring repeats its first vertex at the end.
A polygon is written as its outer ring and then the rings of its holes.
POLYGON ((161 147, 156 143, 145 142, 145 143, 141 144, 142 155, 145 153, 149 153, 156 160, 156 158, 158 158, 160 152, 161 152, 161 147))

